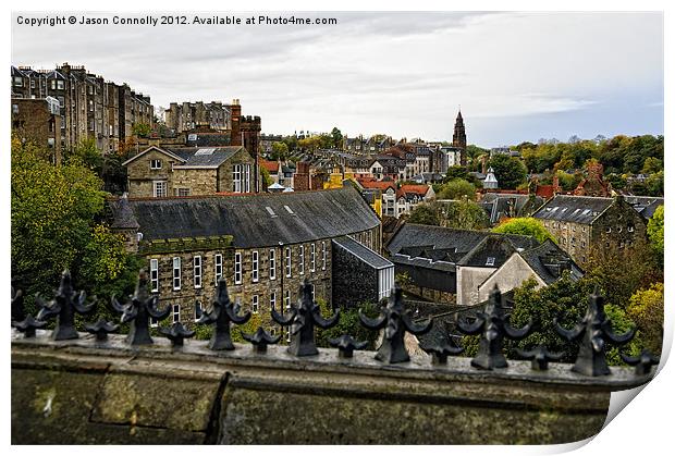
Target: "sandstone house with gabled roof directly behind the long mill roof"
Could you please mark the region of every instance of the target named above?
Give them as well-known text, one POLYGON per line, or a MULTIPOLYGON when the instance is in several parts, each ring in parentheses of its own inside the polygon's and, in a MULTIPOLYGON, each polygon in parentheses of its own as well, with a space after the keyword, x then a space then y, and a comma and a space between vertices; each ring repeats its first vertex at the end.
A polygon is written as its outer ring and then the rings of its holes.
POLYGON ((122 164, 132 198, 257 193, 255 162, 242 146, 151 146, 122 164))

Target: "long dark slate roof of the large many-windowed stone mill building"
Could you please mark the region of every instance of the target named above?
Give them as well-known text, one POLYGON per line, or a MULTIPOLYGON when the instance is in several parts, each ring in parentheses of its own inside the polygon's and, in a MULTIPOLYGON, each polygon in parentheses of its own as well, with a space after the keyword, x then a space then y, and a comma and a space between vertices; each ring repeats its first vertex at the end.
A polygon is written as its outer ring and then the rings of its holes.
MULTIPOLYGON (((128 205, 145 241, 232 235, 238 248, 340 237, 380 224, 359 193, 348 186, 322 192, 130 199, 128 205)), ((122 217, 120 200, 110 201, 110 208, 113 220, 122 217)))

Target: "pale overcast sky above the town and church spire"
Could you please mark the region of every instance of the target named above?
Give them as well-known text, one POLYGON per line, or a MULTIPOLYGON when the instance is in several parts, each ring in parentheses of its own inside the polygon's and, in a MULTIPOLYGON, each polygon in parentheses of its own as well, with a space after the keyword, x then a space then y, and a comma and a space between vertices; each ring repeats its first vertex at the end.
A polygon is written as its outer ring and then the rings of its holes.
POLYGON ((30 27, 19 15, 46 14, 13 14, 15 65, 84 64, 155 106, 238 98, 265 133, 451 139, 462 106, 468 141, 483 147, 663 134, 661 13, 321 12, 302 16, 338 25, 155 27, 30 27))

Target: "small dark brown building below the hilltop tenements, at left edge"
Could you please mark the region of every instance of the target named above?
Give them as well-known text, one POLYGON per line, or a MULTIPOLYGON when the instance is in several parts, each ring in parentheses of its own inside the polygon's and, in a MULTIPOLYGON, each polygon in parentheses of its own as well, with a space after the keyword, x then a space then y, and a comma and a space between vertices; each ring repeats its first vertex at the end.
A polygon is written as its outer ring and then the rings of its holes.
POLYGON ((12 98, 12 130, 21 140, 33 140, 52 151, 52 161, 61 163, 61 115, 59 100, 12 98))

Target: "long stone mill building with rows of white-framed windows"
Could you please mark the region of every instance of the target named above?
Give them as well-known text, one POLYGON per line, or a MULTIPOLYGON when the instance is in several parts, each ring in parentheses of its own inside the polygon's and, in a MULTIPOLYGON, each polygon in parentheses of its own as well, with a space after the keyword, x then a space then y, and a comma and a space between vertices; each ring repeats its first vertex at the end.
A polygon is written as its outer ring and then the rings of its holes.
POLYGON ((122 197, 111 200, 110 209, 112 230, 145 259, 151 292, 162 308, 171 306, 173 321, 197 319, 223 276, 231 298, 277 332, 270 309, 283 311, 295 303, 304 280, 316 299, 333 306, 376 303, 393 286, 393 264, 378 255, 380 221, 349 185, 241 196, 122 197), (346 274, 353 278, 348 283, 334 279, 346 274))

